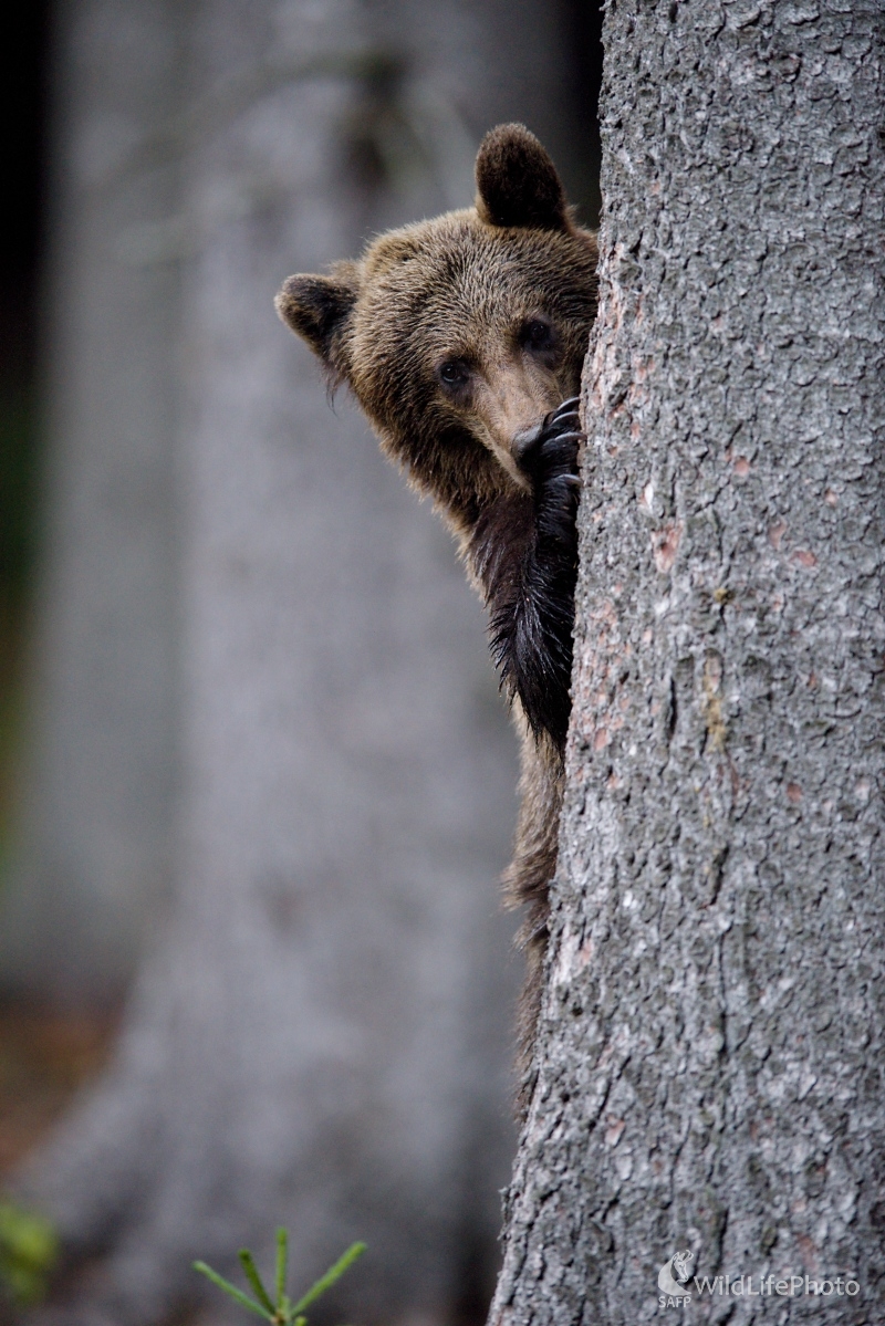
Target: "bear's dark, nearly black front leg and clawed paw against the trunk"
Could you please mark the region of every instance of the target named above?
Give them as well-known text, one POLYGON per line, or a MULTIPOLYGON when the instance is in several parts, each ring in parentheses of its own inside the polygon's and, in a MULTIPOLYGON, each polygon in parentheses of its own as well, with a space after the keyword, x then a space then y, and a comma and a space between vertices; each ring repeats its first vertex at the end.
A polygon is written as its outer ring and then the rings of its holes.
MULTIPOLYGON (((520 456, 532 480, 529 537, 511 564, 510 593, 491 595, 492 654, 502 682, 516 692, 536 737, 549 733, 561 752, 572 708, 572 627, 577 579, 575 517, 581 424, 575 396, 547 416, 520 456)), ((502 586, 503 587, 503 586, 502 586)))

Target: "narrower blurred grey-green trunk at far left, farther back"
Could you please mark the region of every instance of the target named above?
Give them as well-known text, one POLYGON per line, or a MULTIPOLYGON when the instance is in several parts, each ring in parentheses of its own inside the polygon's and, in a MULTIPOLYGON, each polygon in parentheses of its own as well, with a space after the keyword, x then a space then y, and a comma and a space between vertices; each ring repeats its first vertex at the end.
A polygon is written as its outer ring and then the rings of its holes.
POLYGON ((57 20, 48 529, 0 988, 69 1002, 119 993, 169 882, 179 282, 151 249, 176 190, 157 134, 187 12, 84 0, 57 20))

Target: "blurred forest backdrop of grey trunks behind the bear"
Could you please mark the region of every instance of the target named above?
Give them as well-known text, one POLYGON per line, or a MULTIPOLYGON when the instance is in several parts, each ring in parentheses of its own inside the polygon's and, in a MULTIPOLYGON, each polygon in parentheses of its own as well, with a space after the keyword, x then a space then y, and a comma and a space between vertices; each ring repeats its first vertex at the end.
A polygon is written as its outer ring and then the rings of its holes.
POLYGON ((464 206, 500 119, 596 224, 601 15, 16 17, 0 1200, 58 1229, 62 1321, 82 1265, 84 1311, 153 1326, 192 1298, 191 1257, 230 1272, 297 1221, 299 1276, 372 1245, 332 1311, 472 1326, 513 1144, 513 740, 448 536, 357 411, 329 412, 272 294, 464 206))

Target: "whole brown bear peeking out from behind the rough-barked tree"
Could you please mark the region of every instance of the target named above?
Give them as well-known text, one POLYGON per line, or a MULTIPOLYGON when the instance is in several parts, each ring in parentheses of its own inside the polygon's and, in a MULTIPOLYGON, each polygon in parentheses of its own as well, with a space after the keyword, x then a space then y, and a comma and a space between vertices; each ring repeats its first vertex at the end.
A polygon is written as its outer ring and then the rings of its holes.
MULTIPOLYGON (((597 249, 521 125, 476 156, 476 206, 381 235, 328 276, 292 276, 283 320, 346 382, 410 483, 455 533, 490 610, 523 741, 504 882, 527 903, 528 1067, 556 866, 577 573, 576 392, 596 316, 597 249)), ((528 1082, 523 1082, 523 1098, 528 1082)))

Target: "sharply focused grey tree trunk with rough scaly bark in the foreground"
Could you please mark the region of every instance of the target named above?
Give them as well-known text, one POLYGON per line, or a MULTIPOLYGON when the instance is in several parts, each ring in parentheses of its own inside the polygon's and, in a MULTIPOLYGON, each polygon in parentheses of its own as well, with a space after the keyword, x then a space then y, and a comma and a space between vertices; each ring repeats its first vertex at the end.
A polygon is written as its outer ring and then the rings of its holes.
POLYGON ((881 1322, 881 5, 617 0, 605 42, 568 793, 491 1321, 881 1322))

